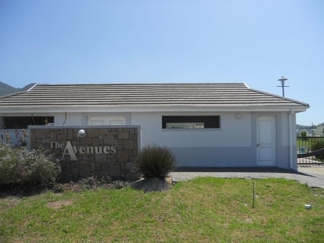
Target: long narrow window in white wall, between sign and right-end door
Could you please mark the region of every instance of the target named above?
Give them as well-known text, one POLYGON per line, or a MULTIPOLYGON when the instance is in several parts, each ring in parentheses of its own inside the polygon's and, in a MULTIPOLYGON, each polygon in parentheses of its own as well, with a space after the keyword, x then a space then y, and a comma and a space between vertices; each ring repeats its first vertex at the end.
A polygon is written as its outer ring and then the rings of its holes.
POLYGON ((219 115, 162 116, 163 129, 220 128, 219 115))

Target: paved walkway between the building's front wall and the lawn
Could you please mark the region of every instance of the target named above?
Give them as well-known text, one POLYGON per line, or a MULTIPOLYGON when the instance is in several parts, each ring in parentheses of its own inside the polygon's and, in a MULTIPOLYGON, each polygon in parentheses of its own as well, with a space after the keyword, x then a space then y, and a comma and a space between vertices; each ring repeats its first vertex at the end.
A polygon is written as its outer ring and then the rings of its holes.
POLYGON ((309 187, 324 188, 324 174, 307 171, 300 168, 299 171, 291 171, 279 168, 178 168, 171 173, 175 182, 192 180, 198 176, 211 176, 220 178, 286 178, 307 184, 309 187))

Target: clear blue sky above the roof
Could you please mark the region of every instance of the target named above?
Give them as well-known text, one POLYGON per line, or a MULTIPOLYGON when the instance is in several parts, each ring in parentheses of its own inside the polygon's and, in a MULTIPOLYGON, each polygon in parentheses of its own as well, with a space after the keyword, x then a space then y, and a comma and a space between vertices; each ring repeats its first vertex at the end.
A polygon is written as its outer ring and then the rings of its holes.
POLYGON ((324 1, 0 0, 0 81, 246 82, 324 121, 324 1))

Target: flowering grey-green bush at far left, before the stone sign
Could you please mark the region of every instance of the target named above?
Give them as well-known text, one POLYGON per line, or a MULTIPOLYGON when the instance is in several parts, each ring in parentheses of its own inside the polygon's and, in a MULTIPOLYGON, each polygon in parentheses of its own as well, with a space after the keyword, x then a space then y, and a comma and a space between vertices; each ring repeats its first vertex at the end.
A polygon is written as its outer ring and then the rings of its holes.
POLYGON ((0 184, 52 187, 60 173, 59 160, 44 149, 29 151, 0 143, 0 184))

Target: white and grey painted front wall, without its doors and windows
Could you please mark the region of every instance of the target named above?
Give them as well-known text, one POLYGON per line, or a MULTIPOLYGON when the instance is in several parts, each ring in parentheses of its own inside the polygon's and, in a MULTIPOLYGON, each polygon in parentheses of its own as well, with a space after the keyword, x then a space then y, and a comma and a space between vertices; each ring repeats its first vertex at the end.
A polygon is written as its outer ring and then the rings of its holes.
MULTIPOLYGON (((88 116, 126 116, 126 124, 142 125, 142 146, 158 144, 169 147, 178 166, 256 166, 256 117, 276 116, 277 166, 289 168, 289 112, 75 112, 67 113, 65 125, 87 125, 88 116), (240 113, 240 119, 235 114, 240 113), (163 115, 220 115, 220 129, 162 129, 163 115)), ((0 116, 29 116, 29 113, 0 116)), ((64 113, 33 113, 53 116, 55 125, 63 125, 64 113)), ((1 119, 0 119, 1 120, 1 119)), ((296 116, 292 116, 296 129, 296 116)), ((296 138, 293 133, 294 168, 297 169, 296 138), (296 156, 295 156, 296 155, 296 156)))

